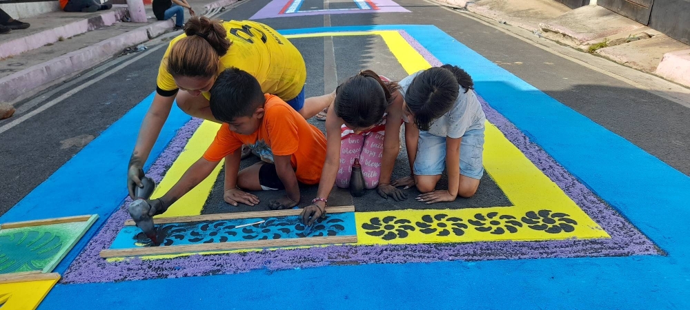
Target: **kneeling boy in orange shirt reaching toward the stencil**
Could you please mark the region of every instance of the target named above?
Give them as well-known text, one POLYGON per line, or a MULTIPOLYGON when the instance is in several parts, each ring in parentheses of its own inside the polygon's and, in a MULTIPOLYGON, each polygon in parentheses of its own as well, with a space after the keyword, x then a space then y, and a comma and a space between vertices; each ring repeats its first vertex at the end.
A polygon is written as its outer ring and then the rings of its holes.
POLYGON ((211 113, 223 125, 204 156, 177 184, 163 197, 147 201, 148 215, 165 212, 230 154, 225 172, 226 203, 235 206, 259 203, 257 196, 242 189, 285 189, 286 196, 270 201, 270 208, 288 209, 297 205, 298 181, 308 185, 319 183, 326 159, 326 136, 285 101, 264 94, 254 76, 237 68, 221 73, 210 94, 211 113), (238 173, 242 145, 249 145, 262 161, 238 173))

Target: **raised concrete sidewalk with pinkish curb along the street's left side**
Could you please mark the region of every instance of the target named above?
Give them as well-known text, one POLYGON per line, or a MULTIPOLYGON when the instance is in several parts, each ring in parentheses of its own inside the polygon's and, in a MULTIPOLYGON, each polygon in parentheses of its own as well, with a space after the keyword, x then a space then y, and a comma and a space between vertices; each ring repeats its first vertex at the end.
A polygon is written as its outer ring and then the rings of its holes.
MULTIPOLYGON (((193 8, 211 15, 235 2, 199 0, 193 8)), ((146 6, 146 14, 146 23, 126 22, 126 5, 117 4, 92 14, 50 12, 23 19, 31 23, 26 30, 0 35, 0 118, 11 115, 12 103, 172 30, 173 21, 156 20, 151 6, 146 6)))

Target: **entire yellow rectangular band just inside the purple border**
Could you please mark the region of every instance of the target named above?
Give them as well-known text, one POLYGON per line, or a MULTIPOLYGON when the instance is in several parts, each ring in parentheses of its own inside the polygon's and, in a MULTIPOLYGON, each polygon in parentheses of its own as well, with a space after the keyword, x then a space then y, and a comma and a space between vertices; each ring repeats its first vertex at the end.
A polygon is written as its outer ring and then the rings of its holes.
MULTIPOLYGON (((400 36, 400 33, 394 30, 386 31, 371 31, 371 32, 319 32, 312 34, 293 34, 285 36, 288 39, 310 38, 310 37, 345 37, 345 36, 364 36, 364 35, 380 35, 388 48, 391 49, 393 55, 397 58, 403 68, 412 74, 419 70, 431 67, 431 65, 424 59, 422 55, 417 53, 414 48, 407 43, 407 41, 400 36)), ((208 122, 205 122, 208 123, 208 122)), ((201 130, 197 130, 197 133, 201 130)), ((215 132, 214 132, 215 133, 215 132)), ((195 134, 197 136, 197 134, 195 134)), ((193 138, 195 138, 193 136, 193 138)), ((209 135, 209 140, 201 149, 205 150, 210 144, 210 139, 213 139, 213 134, 209 135)), ((192 141, 188 143, 190 148, 192 141)), ((201 154, 194 156, 184 169, 172 182, 176 182, 184 173, 184 170, 191 165, 201 154)), ((187 152, 187 150, 186 150, 187 152)), ((179 158, 178 158, 179 161, 179 158)), ((175 162, 177 164, 177 161, 175 162)), ((457 210, 400 210, 400 211, 380 211, 380 212, 356 212, 355 221, 357 223, 357 236, 359 238, 359 245, 374 245, 374 244, 415 244, 415 243, 429 243, 429 242, 477 242, 477 241, 495 241, 495 240, 559 240, 565 238, 611 238, 606 231, 604 231, 597 223, 595 223, 589 216, 587 216, 573 200, 571 200, 562 190, 555 185, 547 176, 529 161, 522 152, 520 152, 515 145, 510 143, 505 136, 491 123, 486 124, 486 143, 484 145, 484 167, 486 172, 491 175, 496 184, 503 190, 504 194, 511 200, 513 206, 500 206, 478 209, 457 209, 457 210), (475 214, 489 214, 497 212, 501 215, 509 215, 520 220, 527 211, 539 211, 541 209, 549 209, 552 212, 562 212, 569 215, 569 218, 576 220, 578 225, 572 233, 549 234, 544 231, 538 231, 522 227, 515 234, 490 234, 488 232, 480 232, 474 229, 467 220, 473 219, 475 214), (434 234, 423 234, 419 227, 416 227, 416 222, 424 215, 447 214, 447 217, 455 216, 462 218, 462 223, 468 226, 468 229, 463 229, 462 236, 456 236, 451 233, 449 236, 435 236, 434 234), (406 238, 395 238, 393 240, 383 240, 380 237, 375 237, 366 234, 367 230, 362 228, 363 223, 369 223, 371 218, 386 216, 395 216, 397 218, 405 218, 411 221, 415 226, 415 230, 408 232, 406 238)), ((172 168, 170 169, 172 170, 172 168)), ((213 179, 217 176, 219 167, 214 171, 213 179)), ((171 172, 169 171, 168 174, 171 172)), ((166 178, 168 177, 166 174, 166 178)), ((211 178, 211 176, 209 176, 211 178)), ((165 181, 165 179, 164 179, 165 181)), ((204 182, 208 181, 205 180, 204 182)), ((210 182, 206 194, 199 196, 199 211, 196 213, 179 213, 179 215, 198 215, 203 207, 206 197, 210 192, 210 182)), ((162 183, 161 183, 162 185, 162 183)), ((172 184, 170 185, 172 187, 172 184)), ((197 186, 199 189, 201 185, 197 186)), ((169 188, 169 187, 168 187, 169 188)), ((160 187, 159 187, 160 189, 160 187)), ((195 189, 195 190, 196 190, 195 189)), ((167 191, 167 189, 166 189, 167 191)), ((189 194, 188 194, 189 195, 189 194)), ((180 200, 181 201, 181 200, 180 200)), ((179 202, 178 202, 179 203, 179 202)), ((177 205, 177 204, 176 204, 177 205)), ((176 214, 177 215, 177 214, 176 214)), ((166 216, 168 215, 166 213, 166 216)), ((202 254, 220 254, 220 253, 237 253, 242 251, 260 251, 261 249, 247 249, 238 251, 221 251, 208 252, 202 254)), ((179 256, 196 255, 193 254, 175 254, 166 256, 147 256, 148 259, 172 258, 179 256)), ((122 260, 122 258, 110 258, 108 261, 122 260)))

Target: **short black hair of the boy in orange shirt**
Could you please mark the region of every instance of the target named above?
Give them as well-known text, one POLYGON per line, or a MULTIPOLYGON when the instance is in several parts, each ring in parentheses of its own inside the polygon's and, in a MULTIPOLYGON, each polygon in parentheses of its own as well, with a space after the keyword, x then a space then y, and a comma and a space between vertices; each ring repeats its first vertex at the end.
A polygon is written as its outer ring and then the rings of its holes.
POLYGON ((266 102, 259 81, 246 71, 229 68, 222 72, 210 90, 213 117, 223 123, 252 116, 266 102))

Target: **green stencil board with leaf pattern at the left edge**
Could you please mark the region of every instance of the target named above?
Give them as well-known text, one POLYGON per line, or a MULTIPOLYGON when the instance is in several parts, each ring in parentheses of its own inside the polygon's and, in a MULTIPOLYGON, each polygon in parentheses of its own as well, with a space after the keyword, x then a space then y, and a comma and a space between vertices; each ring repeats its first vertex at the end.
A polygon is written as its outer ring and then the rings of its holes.
POLYGON ((93 225, 88 220, 0 229, 0 274, 50 272, 93 225))

